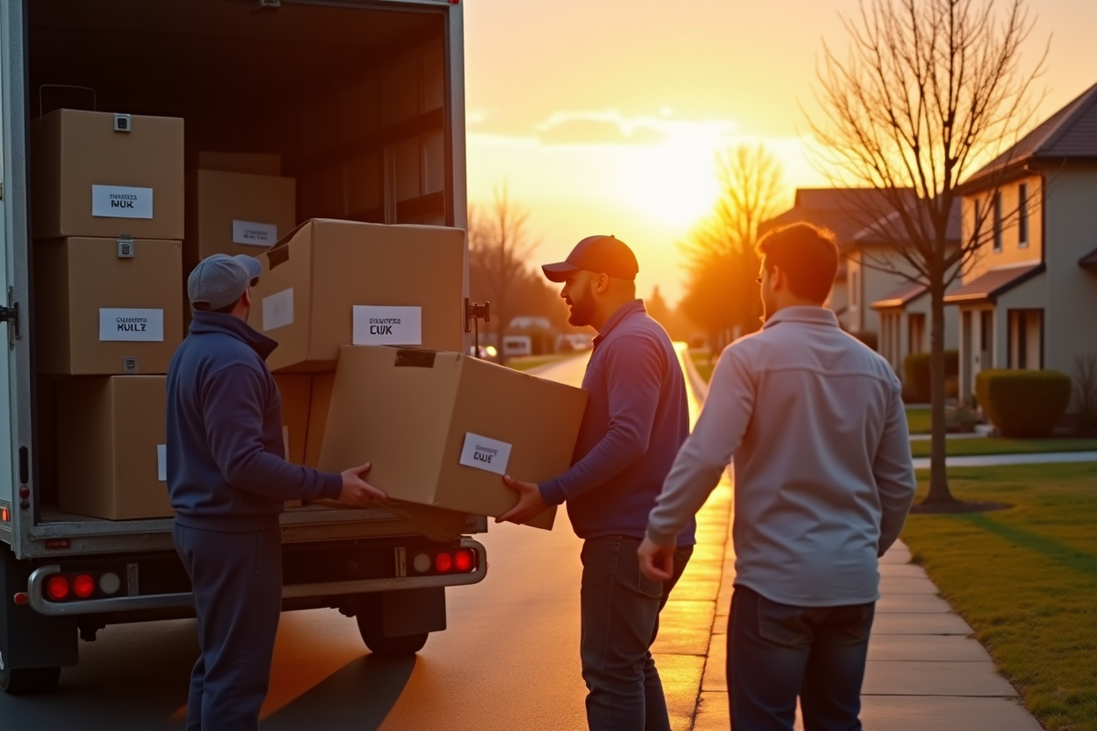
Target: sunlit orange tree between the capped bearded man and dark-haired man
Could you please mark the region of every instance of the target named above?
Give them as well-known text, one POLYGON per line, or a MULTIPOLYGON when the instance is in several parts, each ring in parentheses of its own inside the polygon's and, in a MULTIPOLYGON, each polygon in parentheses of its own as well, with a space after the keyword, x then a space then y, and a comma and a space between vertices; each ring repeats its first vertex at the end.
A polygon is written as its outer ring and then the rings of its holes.
POLYGON ((731 333, 758 329, 758 227, 778 213, 781 167, 762 145, 740 145, 716 157, 720 197, 679 244, 688 281, 681 308, 705 328, 713 346, 731 333))

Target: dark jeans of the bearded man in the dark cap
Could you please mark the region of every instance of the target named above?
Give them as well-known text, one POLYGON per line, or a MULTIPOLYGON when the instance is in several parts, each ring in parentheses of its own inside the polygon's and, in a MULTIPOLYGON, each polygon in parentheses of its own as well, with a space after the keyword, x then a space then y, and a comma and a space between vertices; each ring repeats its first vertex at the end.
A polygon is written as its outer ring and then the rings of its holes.
POLYGON ((579 655, 590 731, 670 731, 651 647, 659 632, 659 613, 693 547, 675 551, 675 572, 667 582, 641 573, 638 547, 638 539, 625 536, 583 544, 579 655))

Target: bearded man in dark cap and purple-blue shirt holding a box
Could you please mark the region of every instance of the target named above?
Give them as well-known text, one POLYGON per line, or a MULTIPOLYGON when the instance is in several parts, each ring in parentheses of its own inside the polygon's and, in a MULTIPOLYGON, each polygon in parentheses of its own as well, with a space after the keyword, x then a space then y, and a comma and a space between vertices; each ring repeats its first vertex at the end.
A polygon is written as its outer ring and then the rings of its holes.
POLYGON ((678 535, 674 571, 652 581, 636 549, 647 515, 689 434, 678 354, 636 299, 636 256, 612 236, 584 239, 559 264, 542 267, 563 283, 568 322, 598 331, 583 388, 590 393, 572 468, 535 484, 505 477, 518 504, 497 522, 524 523, 567 501, 584 539, 579 654, 592 731, 669 731, 651 646, 663 610, 693 552, 695 523, 678 535))

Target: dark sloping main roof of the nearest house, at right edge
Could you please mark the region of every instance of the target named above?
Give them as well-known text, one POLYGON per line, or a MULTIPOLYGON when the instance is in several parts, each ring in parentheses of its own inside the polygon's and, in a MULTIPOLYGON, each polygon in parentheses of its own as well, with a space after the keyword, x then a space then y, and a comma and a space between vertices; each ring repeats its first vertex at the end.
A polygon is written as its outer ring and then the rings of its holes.
POLYGON ((1030 160, 1097 160, 1097 84, 1051 115, 964 182, 964 186, 1030 160))

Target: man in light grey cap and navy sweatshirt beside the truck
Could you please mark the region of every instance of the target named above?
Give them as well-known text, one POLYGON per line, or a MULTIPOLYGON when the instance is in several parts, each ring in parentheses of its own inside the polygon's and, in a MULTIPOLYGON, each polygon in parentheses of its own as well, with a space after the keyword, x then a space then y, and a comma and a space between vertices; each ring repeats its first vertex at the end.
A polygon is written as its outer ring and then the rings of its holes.
POLYGON ((251 256, 215 254, 186 283, 190 334, 168 368, 168 489, 176 549, 191 578, 199 656, 188 731, 259 728, 282 612, 286 500, 370 505, 385 495, 369 465, 330 475, 285 461, 282 399, 265 358, 278 346, 252 330, 251 256))

